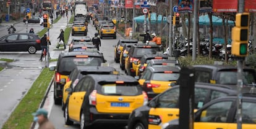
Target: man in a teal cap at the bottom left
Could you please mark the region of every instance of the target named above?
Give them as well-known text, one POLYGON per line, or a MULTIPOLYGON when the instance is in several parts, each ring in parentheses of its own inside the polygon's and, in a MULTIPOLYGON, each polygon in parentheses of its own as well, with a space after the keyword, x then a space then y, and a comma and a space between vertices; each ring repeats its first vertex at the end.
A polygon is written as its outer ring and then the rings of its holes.
POLYGON ((38 129, 55 129, 53 123, 51 123, 48 119, 48 111, 45 109, 38 109, 35 113, 32 114, 34 116, 34 122, 38 122, 38 129))

